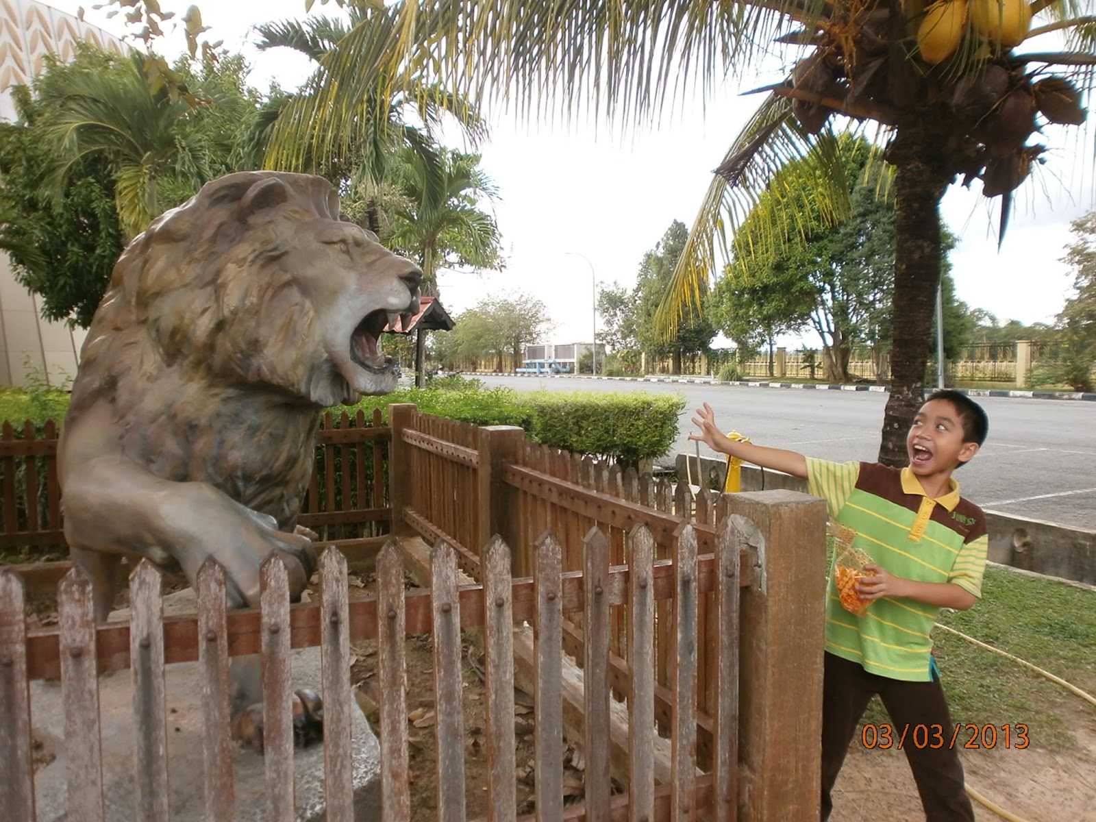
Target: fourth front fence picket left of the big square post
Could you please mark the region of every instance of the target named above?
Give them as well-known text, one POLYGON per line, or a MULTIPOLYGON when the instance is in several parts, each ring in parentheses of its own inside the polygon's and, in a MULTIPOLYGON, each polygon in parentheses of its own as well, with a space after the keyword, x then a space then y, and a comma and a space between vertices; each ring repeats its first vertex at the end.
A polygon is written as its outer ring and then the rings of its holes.
POLYGON ((585 806, 586 819, 602 822, 609 819, 609 544, 596 527, 583 540, 585 572, 583 576, 583 747, 586 754, 585 806))

